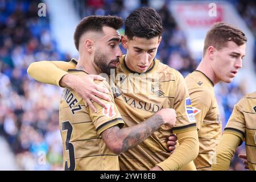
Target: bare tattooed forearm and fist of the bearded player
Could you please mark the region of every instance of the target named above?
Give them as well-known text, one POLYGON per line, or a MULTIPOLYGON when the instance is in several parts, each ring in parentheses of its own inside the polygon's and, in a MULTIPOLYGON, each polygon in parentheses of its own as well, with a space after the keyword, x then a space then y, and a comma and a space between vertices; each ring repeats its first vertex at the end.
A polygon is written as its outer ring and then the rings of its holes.
POLYGON ((162 109, 138 125, 122 129, 113 126, 103 131, 101 136, 111 151, 115 154, 121 154, 143 142, 160 126, 165 124, 171 129, 174 127, 175 121, 176 114, 174 109, 162 109))

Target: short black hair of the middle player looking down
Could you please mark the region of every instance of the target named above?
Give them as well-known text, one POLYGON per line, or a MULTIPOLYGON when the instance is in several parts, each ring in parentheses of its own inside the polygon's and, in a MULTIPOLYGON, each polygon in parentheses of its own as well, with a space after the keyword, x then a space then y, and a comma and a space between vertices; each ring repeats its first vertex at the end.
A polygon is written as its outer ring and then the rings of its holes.
POLYGON ((125 20, 125 35, 129 39, 133 39, 134 36, 151 39, 161 36, 162 32, 162 18, 151 7, 134 10, 125 20))

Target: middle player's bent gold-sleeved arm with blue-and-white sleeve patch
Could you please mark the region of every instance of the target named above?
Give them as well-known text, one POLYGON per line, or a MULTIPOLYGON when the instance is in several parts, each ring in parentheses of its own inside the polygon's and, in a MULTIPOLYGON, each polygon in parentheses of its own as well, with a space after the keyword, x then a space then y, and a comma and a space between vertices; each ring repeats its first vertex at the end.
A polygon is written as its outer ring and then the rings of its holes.
POLYGON ((177 135, 180 146, 175 149, 169 158, 156 164, 156 166, 163 170, 179 170, 195 159, 199 153, 196 120, 193 112, 191 113, 187 109, 187 107, 191 107, 191 104, 186 104, 188 101, 190 102, 188 89, 180 73, 177 74, 176 79, 174 109, 176 110, 177 121, 172 130, 177 135))

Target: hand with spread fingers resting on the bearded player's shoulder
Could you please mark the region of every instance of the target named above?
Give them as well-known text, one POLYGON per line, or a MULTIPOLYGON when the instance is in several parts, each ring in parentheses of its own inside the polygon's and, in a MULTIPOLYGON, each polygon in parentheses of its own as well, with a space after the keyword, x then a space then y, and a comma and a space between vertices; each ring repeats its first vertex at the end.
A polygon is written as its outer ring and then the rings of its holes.
POLYGON ((61 78, 60 86, 75 90, 75 92, 86 101, 89 107, 94 112, 97 112, 97 109, 93 106, 91 100, 97 102, 102 107, 106 107, 104 102, 102 102, 99 98, 110 101, 110 97, 108 96, 110 93, 108 89, 101 85, 95 84, 94 80, 102 81, 106 80, 106 78, 100 75, 86 75, 81 77, 73 74, 67 74, 61 78))

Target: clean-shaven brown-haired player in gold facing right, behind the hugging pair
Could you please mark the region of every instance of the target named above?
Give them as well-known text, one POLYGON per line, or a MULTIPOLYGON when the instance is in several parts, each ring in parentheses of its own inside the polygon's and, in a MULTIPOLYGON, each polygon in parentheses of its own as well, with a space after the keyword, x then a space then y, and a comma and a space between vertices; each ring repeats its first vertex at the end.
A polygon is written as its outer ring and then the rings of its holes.
POLYGON ((221 119, 213 87, 220 81, 231 82, 242 68, 245 57, 245 34, 236 27, 218 22, 205 40, 203 59, 196 71, 186 78, 199 135, 197 170, 210 170, 221 137, 221 119))

